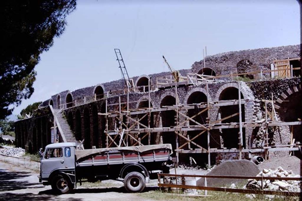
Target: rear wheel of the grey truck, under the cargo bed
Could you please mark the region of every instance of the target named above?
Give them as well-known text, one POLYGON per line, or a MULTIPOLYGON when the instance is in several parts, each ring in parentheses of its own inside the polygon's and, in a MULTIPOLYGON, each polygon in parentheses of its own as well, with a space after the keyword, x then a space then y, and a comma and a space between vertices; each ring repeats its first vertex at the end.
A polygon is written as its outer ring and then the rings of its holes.
POLYGON ((146 187, 146 179, 139 172, 130 172, 124 178, 124 187, 128 192, 139 193, 146 187))

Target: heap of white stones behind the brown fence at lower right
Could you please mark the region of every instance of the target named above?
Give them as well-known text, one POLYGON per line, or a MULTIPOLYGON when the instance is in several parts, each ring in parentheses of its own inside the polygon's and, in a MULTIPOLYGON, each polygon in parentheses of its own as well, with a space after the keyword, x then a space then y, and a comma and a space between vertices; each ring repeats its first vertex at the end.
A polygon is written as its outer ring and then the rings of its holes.
MULTIPOLYGON (((294 174, 291 170, 284 170, 278 167, 275 170, 263 169, 257 176, 263 177, 300 177, 299 174, 294 174)), ((300 192, 300 181, 293 180, 263 180, 263 190, 300 192)), ((249 179, 243 189, 261 190, 261 180, 249 179)))

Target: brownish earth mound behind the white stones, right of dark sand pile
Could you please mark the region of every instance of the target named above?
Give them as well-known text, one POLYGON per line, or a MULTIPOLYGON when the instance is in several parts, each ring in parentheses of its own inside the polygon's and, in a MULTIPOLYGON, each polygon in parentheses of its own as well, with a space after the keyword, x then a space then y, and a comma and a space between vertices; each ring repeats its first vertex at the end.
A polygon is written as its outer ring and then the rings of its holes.
POLYGON ((265 169, 276 169, 281 166, 284 170, 292 170, 295 174, 300 174, 300 162, 301 160, 296 156, 284 156, 277 158, 270 158, 259 164, 260 170, 265 169))

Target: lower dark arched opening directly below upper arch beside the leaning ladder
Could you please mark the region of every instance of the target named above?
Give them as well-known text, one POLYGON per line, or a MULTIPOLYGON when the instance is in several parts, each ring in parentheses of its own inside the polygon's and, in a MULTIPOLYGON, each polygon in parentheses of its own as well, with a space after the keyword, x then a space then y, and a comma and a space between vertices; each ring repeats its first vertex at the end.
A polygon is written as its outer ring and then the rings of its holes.
MULTIPOLYGON (((150 107, 152 107, 152 103, 150 102, 150 107)), ((149 101, 148 99, 143 99, 139 104, 138 104, 138 108, 149 108, 149 101)), ((143 118, 145 114, 140 114, 138 115, 138 119, 143 118)), ((154 121, 153 121, 153 113, 151 113, 151 117, 150 117, 150 128, 154 127, 154 121)), ((148 127, 148 115, 145 116, 142 120, 140 120, 140 123, 145 125, 146 127, 148 127)), ((140 128, 142 128, 142 126, 140 126, 140 128)), ((138 137, 140 138, 140 142, 143 145, 149 145, 149 141, 150 144, 154 144, 154 135, 152 133, 150 133, 150 139, 149 139, 149 135, 147 133, 140 133, 138 135, 138 137)))

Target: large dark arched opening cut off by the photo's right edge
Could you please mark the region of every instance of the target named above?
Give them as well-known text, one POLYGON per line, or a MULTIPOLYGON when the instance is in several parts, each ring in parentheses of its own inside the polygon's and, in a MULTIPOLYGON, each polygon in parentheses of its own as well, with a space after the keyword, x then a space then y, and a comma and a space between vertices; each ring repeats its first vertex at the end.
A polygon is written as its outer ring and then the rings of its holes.
MULTIPOLYGON (((300 91, 288 96, 285 101, 282 102, 281 107, 278 110, 281 121, 301 121, 302 119, 302 93, 300 91)), ((295 142, 301 142, 302 126, 293 125, 289 126, 289 130, 293 132, 293 139, 295 142)), ((296 156, 302 157, 300 151, 295 152, 296 156)))

